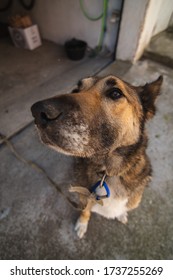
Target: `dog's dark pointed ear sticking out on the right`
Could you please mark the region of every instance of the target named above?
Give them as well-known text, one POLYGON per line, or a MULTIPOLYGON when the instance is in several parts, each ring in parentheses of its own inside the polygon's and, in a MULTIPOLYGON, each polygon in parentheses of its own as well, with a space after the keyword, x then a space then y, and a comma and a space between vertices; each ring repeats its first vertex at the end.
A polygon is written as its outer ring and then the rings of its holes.
POLYGON ((162 82, 163 76, 159 76, 159 78, 156 81, 152 83, 147 83, 141 87, 137 87, 137 92, 142 102, 144 115, 146 119, 152 118, 155 114, 155 101, 160 93, 162 82))

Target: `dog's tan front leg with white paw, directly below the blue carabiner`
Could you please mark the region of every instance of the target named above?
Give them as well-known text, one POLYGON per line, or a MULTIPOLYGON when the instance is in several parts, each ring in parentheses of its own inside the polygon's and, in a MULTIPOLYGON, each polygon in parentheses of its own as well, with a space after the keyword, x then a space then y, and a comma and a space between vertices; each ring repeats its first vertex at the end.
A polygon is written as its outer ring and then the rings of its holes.
POLYGON ((91 216, 91 211, 88 209, 84 209, 79 219, 77 220, 77 223, 75 225, 75 230, 79 238, 82 238, 86 233, 90 216, 91 216))

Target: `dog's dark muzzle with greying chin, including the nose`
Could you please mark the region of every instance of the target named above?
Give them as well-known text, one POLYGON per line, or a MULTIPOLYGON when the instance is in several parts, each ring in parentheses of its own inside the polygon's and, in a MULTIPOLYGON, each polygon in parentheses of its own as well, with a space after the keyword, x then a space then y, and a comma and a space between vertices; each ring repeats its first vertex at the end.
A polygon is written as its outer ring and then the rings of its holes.
POLYGON ((74 95, 39 101, 31 111, 43 143, 69 155, 93 154, 89 124, 74 95))

